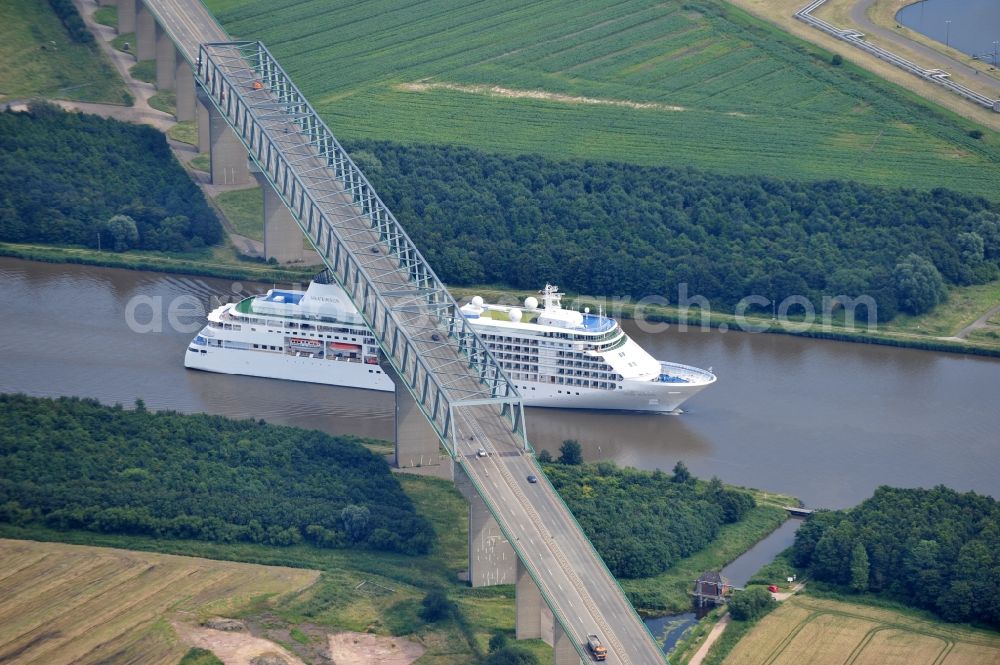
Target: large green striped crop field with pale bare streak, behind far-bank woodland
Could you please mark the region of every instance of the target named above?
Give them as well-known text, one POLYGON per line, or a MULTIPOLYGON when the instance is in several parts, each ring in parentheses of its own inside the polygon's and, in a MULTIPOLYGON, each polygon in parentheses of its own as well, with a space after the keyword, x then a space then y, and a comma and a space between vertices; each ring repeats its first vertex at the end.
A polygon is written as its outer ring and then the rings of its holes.
POLYGON ((207 4, 344 138, 997 196, 996 133, 722 0, 207 4))

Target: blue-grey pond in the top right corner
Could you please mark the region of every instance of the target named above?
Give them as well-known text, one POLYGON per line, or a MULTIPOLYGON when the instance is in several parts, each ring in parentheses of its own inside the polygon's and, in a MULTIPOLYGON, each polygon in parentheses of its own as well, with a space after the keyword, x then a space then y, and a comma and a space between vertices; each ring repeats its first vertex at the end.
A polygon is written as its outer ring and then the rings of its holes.
POLYGON ((985 56, 996 65, 993 54, 1000 41, 1000 2, 997 0, 922 0, 903 7, 896 21, 942 44, 985 56))

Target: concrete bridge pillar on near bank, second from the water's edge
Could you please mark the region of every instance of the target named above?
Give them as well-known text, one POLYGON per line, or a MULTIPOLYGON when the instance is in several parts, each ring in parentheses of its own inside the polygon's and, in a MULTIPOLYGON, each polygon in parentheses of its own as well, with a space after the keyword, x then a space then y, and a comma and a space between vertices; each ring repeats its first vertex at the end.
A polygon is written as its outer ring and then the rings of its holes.
MULTIPOLYGON (((490 464, 485 458, 476 458, 472 463, 490 464)), ((455 486, 469 502, 469 584, 481 587, 514 583, 520 563, 514 548, 460 466, 455 469, 455 486)))

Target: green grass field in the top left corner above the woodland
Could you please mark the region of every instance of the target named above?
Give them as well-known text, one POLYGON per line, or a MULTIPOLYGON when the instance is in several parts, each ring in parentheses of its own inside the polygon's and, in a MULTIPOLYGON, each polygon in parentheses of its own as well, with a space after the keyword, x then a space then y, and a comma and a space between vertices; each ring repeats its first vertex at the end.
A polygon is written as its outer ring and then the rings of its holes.
POLYGON ((131 103, 97 47, 70 41, 47 2, 0 2, 0 101, 49 97, 131 103))

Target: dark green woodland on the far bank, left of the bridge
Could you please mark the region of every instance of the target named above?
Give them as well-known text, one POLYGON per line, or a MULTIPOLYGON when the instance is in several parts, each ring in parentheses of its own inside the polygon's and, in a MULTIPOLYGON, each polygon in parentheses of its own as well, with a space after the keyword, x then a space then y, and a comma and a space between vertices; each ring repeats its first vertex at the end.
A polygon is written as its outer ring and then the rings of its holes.
POLYGON ((44 103, 0 113, 0 240, 97 247, 98 233, 103 249, 119 250, 222 239, 201 190, 152 127, 44 103))

